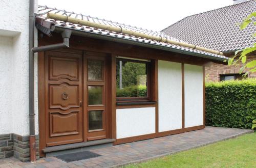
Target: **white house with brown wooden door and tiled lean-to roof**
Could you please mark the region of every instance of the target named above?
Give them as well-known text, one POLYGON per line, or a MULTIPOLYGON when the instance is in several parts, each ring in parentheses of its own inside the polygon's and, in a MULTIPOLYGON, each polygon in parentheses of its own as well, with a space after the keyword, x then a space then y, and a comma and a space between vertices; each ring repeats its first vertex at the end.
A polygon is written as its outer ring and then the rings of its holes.
POLYGON ((0 4, 1 158, 205 128, 204 66, 222 52, 33 0, 0 4))

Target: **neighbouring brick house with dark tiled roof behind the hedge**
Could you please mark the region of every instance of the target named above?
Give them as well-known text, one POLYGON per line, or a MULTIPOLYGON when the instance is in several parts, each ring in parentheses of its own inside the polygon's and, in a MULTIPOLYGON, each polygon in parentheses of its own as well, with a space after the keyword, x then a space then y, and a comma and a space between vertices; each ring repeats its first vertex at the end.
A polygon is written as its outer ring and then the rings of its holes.
MULTIPOLYGON (((234 5, 208 12, 185 17, 184 19, 166 27, 161 32, 206 48, 220 50, 227 57, 233 57, 237 50, 251 47, 255 43, 255 25, 250 24, 241 31, 238 23, 250 13, 256 11, 256 2, 235 0, 234 5)), ((247 61, 255 60, 255 53, 247 57, 247 61)), ((205 67, 206 78, 211 81, 242 78, 248 69, 239 74, 242 67, 211 64, 205 67)), ((256 77, 256 73, 249 73, 248 77, 256 77)))

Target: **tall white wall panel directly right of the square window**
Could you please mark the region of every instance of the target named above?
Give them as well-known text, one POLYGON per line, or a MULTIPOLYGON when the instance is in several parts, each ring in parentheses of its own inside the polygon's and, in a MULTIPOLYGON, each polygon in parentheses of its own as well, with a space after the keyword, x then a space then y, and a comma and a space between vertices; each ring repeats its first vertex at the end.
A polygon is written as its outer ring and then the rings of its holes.
POLYGON ((182 128, 181 63, 158 61, 159 132, 182 128))

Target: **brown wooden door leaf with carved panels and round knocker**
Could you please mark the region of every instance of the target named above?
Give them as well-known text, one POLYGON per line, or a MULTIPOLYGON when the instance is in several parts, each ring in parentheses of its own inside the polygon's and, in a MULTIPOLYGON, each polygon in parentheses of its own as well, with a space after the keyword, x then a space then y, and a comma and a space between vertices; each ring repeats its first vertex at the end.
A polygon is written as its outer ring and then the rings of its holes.
POLYGON ((82 142, 82 55, 46 52, 47 146, 82 142))

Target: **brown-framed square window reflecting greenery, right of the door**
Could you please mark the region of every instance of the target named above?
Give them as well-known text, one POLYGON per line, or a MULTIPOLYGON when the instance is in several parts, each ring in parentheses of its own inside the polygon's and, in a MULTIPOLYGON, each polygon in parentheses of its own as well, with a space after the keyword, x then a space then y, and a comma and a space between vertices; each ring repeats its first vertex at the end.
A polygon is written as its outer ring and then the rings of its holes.
POLYGON ((116 97, 117 101, 149 100, 150 62, 117 58, 116 97))

